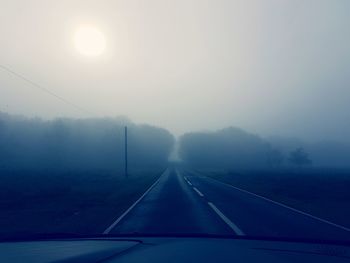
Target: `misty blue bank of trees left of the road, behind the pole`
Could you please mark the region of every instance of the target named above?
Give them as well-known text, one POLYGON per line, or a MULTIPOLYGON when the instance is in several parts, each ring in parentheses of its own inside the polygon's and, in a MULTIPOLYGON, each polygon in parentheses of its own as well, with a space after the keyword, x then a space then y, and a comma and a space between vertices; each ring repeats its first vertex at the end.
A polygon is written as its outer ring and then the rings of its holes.
POLYGON ((121 170, 124 126, 130 168, 166 166, 174 137, 126 118, 55 119, 0 113, 0 168, 121 170))

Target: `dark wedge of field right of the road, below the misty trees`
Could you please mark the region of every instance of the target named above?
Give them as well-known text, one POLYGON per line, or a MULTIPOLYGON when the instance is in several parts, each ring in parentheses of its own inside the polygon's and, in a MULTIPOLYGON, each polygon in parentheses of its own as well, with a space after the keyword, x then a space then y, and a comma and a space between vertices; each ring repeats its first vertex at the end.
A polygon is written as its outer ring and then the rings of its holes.
POLYGON ((350 170, 201 171, 216 180, 350 227, 350 170))

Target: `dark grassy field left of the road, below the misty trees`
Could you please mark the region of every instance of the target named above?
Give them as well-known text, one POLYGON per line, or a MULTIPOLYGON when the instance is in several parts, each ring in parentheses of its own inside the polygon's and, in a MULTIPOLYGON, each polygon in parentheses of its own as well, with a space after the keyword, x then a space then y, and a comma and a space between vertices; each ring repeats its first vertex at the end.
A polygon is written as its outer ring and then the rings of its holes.
POLYGON ((102 233, 162 172, 0 171, 0 236, 102 233))

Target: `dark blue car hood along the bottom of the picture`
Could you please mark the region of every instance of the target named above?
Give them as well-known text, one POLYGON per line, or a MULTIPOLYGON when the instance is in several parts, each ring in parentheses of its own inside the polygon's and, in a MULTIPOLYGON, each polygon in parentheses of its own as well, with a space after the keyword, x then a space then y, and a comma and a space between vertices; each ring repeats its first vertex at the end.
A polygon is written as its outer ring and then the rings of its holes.
POLYGON ((347 245, 220 238, 0 243, 0 262, 349 262, 347 245))

